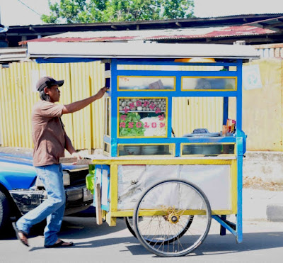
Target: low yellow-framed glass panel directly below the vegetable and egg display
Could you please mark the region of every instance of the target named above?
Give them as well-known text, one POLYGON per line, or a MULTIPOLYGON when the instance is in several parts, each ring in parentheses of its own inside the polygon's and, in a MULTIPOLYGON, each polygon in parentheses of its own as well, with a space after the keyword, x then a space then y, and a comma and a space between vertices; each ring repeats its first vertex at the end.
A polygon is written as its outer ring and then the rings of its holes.
POLYGON ((118 145, 118 155, 174 155, 173 145, 118 145))

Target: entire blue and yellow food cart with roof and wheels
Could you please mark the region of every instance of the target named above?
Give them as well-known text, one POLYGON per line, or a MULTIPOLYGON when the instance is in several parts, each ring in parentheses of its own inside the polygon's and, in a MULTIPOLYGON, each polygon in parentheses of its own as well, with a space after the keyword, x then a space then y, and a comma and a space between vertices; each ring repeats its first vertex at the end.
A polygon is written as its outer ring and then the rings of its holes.
POLYGON ((125 218, 141 244, 161 257, 195 250, 212 218, 221 225, 220 235, 229 230, 242 242, 242 65, 258 58, 253 47, 76 43, 74 51, 71 44, 45 46, 44 54, 38 47, 28 51, 31 57, 93 57, 105 63, 110 89, 103 154, 84 160, 95 177, 98 222, 104 218, 114 226, 116 218, 125 218), (175 99, 209 97, 221 98, 214 115, 219 130, 200 126, 175 136, 173 121, 184 121, 173 115, 175 99))

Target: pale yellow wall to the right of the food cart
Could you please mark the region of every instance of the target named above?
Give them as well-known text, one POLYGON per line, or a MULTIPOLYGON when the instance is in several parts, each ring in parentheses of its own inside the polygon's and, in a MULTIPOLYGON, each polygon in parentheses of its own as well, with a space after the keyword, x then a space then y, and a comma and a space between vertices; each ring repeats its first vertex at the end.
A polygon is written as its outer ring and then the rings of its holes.
POLYGON ((243 130, 248 135, 247 149, 282 152, 283 59, 263 58, 248 65, 259 65, 262 88, 243 89, 243 130))

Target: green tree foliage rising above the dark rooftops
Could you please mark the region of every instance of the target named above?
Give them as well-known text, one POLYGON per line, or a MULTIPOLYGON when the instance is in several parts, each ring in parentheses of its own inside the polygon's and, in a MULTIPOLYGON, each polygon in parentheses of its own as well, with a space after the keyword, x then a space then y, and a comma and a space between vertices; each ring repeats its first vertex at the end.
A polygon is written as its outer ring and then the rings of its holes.
POLYGON ((190 18, 193 0, 60 0, 51 4, 45 23, 97 23, 190 18))

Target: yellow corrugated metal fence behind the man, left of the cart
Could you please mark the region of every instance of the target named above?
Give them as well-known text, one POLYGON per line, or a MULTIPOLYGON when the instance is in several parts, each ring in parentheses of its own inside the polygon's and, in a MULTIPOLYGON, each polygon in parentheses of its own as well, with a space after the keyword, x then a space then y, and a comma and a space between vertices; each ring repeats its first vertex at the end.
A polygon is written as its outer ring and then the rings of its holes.
MULTIPOLYGON (((104 65, 100 62, 74 64, 11 63, 0 68, 0 135, 2 146, 32 148, 30 114, 39 99, 33 91, 40 76, 64 79, 60 103, 85 99, 104 85, 104 65)), ((81 111, 63 116, 67 134, 76 149, 101 148, 103 140, 101 99, 81 111)))

